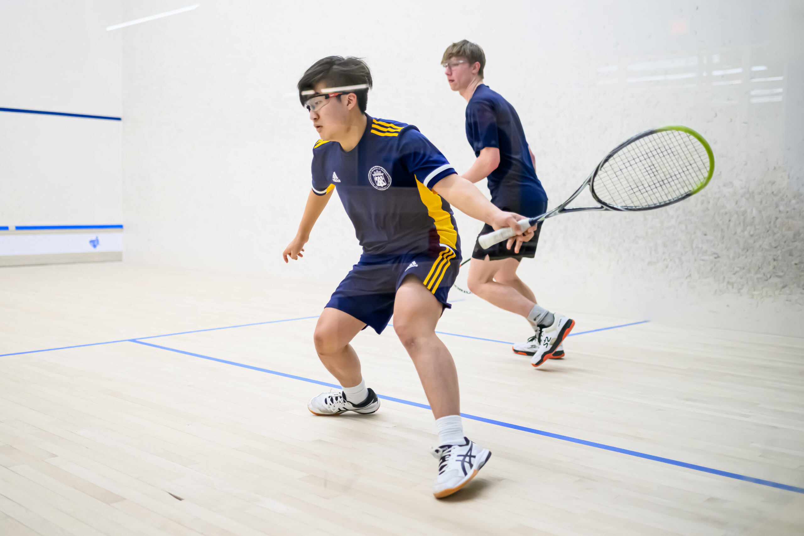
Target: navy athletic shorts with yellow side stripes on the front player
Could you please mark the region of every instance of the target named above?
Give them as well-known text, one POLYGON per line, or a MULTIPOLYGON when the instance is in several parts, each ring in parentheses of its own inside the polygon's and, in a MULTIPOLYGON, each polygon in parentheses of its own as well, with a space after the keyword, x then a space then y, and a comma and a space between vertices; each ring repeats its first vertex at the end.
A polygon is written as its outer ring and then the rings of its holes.
POLYGON ((325 307, 352 315, 382 333, 394 314, 396 291, 405 277, 415 275, 448 309, 452 306, 447 295, 460 265, 461 253, 447 246, 438 254, 363 254, 325 307))

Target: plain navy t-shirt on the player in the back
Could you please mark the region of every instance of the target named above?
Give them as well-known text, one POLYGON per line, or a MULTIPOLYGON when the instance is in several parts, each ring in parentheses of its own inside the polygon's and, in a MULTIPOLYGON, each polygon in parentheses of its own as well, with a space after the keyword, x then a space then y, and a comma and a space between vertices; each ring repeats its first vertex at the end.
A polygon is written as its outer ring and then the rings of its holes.
POLYGON ((500 150, 499 166, 488 176, 491 202, 523 216, 539 216, 547 194, 536 177, 522 122, 514 107, 485 84, 478 85, 466 105, 466 138, 476 156, 486 147, 500 150))

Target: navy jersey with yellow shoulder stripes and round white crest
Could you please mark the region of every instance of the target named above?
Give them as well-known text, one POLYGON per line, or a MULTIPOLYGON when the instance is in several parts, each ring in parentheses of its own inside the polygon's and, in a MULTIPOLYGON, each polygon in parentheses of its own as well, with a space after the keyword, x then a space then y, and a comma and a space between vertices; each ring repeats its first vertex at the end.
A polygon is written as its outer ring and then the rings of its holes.
POLYGON ((432 189, 455 173, 452 165, 415 126, 366 117, 354 149, 316 142, 313 192, 338 188, 363 254, 460 251, 452 208, 432 189))

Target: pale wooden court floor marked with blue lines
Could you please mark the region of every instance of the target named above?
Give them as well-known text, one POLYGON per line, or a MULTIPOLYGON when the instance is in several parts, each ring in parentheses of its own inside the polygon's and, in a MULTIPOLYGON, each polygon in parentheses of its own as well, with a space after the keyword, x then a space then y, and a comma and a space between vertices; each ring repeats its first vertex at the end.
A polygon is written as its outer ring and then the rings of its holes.
POLYGON ((329 291, 0 269, 0 534, 804 534, 804 339, 565 311, 567 358, 532 369, 522 320, 455 293, 439 330, 493 456, 437 501, 392 329, 355 340, 378 413, 306 409, 334 382, 311 341, 329 291))

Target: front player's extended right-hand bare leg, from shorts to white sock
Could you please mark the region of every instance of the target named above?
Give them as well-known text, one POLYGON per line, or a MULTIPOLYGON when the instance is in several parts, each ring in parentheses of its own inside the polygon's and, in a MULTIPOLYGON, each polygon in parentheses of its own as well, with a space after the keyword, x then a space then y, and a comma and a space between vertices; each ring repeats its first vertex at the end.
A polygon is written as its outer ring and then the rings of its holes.
POLYGON ((435 418, 461 413, 457 370, 436 335, 443 306, 418 278, 409 275, 396 291, 394 331, 419 373, 435 418))

